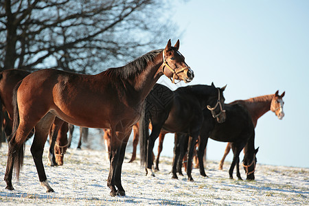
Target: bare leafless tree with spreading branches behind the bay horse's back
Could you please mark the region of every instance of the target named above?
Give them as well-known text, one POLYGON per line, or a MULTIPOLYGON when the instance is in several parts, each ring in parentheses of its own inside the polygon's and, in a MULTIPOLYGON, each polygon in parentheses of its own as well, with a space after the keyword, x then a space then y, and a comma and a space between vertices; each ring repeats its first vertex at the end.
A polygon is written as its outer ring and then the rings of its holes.
POLYGON ((97 73, 179 37, 161 0, 1 0, 0 70, 97 73))

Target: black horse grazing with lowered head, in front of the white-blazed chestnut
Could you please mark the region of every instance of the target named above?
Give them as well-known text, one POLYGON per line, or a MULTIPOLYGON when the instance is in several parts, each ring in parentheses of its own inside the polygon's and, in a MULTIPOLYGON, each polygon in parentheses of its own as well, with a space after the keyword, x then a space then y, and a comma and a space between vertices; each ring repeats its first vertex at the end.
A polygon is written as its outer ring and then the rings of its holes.
MULTIPOLYGON (((247 180, 254 180, 255 165, 257 162, 256 154, 258 148, 255 150, 254 139, 255 131, 251 116, 247 111, 247 108, 242 104, 225 104, 225 111, 227 118, 225 122, 218 123, 210 118, 211 113, 209 111, 203 111, 204 122, 200 131, 200 137, 198 139, 198 162, 200 173, 202 176, 207 176, 204 170, 203 156, 205 148, 207 146, 208 138, 215 141, 231 142, 231 148, 233 150, 233 161, 229 168, 229 178, 233 179, 233 169, 236 166, 238 179, 242 179, 239 171, 239 155, 242 149, 244 149, 243 166, 247 174, 247 180)), ((188 136, 185 134, 185 136, 188 136)), ((185 137, 182 137, 185 139, 185 137)), ((188 140, 187 140, 188 141, 188 140)), ((185 142, 185 141, 184 141, 185 142)), ((175 142, 175 145, 177 142, 175 142)), ((186 145, 182 146, 186 148, 186 145)), ((186 150, 183 149, 180 155, 182 159, 186 150)), ((177 167, 181 168, 182 162, 177 163, 177 167)), ((190 163, 187 163, 187 168, 190 167, 190 163)))

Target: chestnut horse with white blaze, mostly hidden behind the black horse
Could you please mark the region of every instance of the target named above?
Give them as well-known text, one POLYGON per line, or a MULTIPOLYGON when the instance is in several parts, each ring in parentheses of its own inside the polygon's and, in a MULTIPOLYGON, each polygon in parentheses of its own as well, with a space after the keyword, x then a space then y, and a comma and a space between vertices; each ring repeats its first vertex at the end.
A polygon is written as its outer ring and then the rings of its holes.
MULTIPOLYGON (((279 91, 276 91, 275 94, 271 95, 262 95, 256 98, 250 98, 248 100, 236 100, 230 104, 242 104, 242 106, 247 108, 255 128, 256 124, 258 123, 258 119, 268 111, 275 113, 279 119, 284 117, 284 101, 282 98, 284 97, 285 91, 281 95, 278 93, 279 91)), ((229 150, 231 150, 230 142, 227 144, 227 148, 225 148, 225 154, 219 163, 219 170, 222 170, 225 157, 227 157, 227 154, 229 154, 229 150)))

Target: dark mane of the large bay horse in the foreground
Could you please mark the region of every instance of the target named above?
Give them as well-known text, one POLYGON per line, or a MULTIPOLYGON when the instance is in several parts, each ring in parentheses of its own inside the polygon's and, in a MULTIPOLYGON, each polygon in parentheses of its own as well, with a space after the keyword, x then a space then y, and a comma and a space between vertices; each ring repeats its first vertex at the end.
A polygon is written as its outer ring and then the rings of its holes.
POLYGON ((139 73, 144 71, 149 62, 153 62, 155 57, 162 51, 163 49, 152 50, 151 52, 140 56, 132 62, 128 62, 128 64, 124 65, 123 67, 109 68, 106 71, 103 71, 103 73, 111 78, 121 78, 124 80, 130 79, 132 77, 134 78, 135 76, 139 75, 139 73))

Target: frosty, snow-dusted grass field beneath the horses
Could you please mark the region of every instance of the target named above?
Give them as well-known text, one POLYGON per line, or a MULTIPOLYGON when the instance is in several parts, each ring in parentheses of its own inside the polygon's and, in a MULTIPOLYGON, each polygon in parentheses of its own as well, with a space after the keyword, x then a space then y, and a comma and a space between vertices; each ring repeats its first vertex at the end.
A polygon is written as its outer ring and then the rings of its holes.
MULTIPOLYGON (((45 148, 43 161, 47 162, 45 148)), ((0 149, 0 205, 309 205, 309 169, 257 164, 255 181, 229 179, 225 162, 217 170, 217 161, 207 161, 208 178, 192 171, 194 182, 186 176, 171 179, 172 159, 161 157, 160 171, 155 177, 145 176, 139 159, 128 163, 130 153, 122 167, 124 197, 109 196, 106 186, 109 161, 105 151, 69 149, 65 165, 45 165, 47 179, 55 190, 46 193, 39 184, 30 146, 26 146, 23 171, 19 182, 13 180, 14 191, 5 190, 3 176, 8 145, 0 149)), ((185 174, 185 172, 184 172, 185 174)), ((242 178, 245 179, 241 168, 242 178)))

